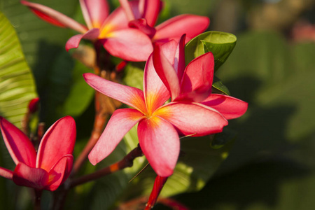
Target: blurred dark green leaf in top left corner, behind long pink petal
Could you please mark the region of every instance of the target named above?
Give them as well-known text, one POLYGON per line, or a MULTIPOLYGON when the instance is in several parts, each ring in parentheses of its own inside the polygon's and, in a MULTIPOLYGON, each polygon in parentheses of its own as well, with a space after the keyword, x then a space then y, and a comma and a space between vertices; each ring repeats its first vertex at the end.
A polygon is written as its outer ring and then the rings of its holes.
MULTIPOLYGON (((27 63, 36 80, 38 94, 46 85, 46 76, 60 53, 65 52, 64 45, 73 35, 71 29, 55 27, 38 18, 20 3, 20 0, 0 0, 1 10, 15 27, 22 45, 27 63)), ((32 1, 44 4, 71 17, 79 6, 78 0, 32 1)))

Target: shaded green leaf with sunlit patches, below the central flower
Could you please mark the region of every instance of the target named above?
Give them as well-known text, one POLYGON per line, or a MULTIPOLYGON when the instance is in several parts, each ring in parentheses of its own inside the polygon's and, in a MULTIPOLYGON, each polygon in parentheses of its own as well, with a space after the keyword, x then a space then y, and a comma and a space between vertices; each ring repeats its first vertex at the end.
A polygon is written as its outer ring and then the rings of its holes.
MULTIPOLYGON (((169 197, 184 192, 193 192, 204 187, 216 172, 221 162, 228 157, 232 142, 221 148, 211 148, 213 136, 186 137, 181 139, 181 155, 174 174, 169 177, 161 196, 169 197)), ((230 140, 230 139, 229 139, 230 140)), ((155 181, 155 172, 151 167, 144 170, 130 183, 123 200, 130 200, 139 195, 150 195, 155 181)))

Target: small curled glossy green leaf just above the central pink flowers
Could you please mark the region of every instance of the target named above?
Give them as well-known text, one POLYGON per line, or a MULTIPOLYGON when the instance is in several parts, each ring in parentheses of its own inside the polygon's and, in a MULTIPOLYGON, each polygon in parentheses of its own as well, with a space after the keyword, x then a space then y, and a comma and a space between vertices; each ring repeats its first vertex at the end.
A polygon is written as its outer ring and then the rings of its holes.
POLYGON ((235 47, 237 37, 221 31, 207 31, 186 44, 186 64, 206 52, 214 54, 214 71, 228 59, 235 47))

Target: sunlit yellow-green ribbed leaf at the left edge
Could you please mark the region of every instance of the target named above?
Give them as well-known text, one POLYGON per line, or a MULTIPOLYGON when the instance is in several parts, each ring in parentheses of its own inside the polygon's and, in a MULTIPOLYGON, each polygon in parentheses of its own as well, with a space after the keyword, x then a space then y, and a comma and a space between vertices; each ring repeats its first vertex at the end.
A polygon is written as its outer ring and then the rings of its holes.
POLYGON ((15 30, 0 13, 0 115, 20 127, 27 105, 37 97, 34 78, 15 30))

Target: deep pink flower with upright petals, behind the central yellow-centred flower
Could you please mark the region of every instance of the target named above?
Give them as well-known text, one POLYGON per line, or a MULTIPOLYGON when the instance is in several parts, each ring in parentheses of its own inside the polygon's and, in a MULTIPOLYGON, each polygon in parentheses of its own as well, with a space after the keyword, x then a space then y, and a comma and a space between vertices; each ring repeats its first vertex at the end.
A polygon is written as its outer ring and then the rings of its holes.
MULTIPOLYGON (((174 60, 169 60, 160 46, 153 50, 153 64, 156 72, 171 94, 172 102, 191 102, 208 106, 227 119, 239 118, 248 104, 235 97, 211 94, 214 79, 214 55, 207 52, 185 63, 185 35, 177 45, 174 60)), ((179 129, 179 131, 181 131, 179 129)), ((187 134, 183 131, 183 134, 187 134)))

